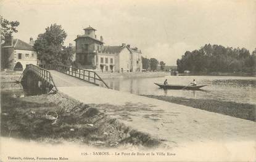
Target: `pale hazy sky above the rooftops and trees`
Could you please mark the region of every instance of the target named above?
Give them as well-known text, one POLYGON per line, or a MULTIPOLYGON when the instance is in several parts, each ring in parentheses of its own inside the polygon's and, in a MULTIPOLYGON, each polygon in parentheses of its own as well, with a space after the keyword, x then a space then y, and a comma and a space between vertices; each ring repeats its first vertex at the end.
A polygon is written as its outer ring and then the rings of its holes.
POLYGON ((25 42, 57 23, 75 45, 90 25, 105 45, 130 44, 167 65, 209 43, 256 48, 255 0, 0 0, 0 14, 20 22, 14 37, 25 42))

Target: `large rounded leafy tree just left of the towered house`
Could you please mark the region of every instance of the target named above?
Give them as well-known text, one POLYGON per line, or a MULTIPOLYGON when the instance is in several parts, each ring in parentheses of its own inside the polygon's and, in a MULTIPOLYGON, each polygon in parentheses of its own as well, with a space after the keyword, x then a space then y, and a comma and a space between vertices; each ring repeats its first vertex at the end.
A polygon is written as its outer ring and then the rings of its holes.
POLYGON ((64 47, 67 37, 61 25, 51 25, 45 33, 39 34, 34 48, 38 53, 38 59, 45 64, 70 64, 72 58, 71 47, 64 47))

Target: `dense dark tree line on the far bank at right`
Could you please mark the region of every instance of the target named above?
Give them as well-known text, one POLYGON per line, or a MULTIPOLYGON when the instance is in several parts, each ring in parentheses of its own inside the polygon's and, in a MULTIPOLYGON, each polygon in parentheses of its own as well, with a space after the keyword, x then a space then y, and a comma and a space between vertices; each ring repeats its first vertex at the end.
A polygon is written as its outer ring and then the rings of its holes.
POLYGON ((177 60, 179 72, 256 72, 256 48, 250 53, 246 48, 223 47, 205 44, 199 50, 187 51, 177 60))

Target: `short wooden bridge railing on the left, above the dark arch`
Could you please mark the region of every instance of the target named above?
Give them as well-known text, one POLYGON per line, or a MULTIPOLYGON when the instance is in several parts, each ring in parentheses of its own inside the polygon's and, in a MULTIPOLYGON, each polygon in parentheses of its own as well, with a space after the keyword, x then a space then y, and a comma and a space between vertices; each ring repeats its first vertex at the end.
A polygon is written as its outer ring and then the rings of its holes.
POLYGON ((26 69, 31 69, 33 72, 36 73, 36 75, 38 75, 38 77, 40 77, 47 83, 53 85, 57 91, 57 87, 52 79, 51 72, 47 71, 46 69, 43 69, 42 67, 35 66, 34 64, 27 64, 26 69))

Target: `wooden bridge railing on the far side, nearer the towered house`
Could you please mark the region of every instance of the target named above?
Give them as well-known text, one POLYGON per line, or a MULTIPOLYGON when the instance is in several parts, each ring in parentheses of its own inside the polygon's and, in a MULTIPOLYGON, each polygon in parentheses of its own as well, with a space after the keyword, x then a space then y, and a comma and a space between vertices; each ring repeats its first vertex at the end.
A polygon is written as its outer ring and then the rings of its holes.
POLYGON ((101 77, 94 71, 88 71, 86 69, 79 69, 72 66, 65 66, 60 64, 52 64, 50 69, 62 72, 64 74, 71 75, 86 82, 93 83, 94 85, 99 85, 97 81, 104 83, 105 87, 109 86, 101 79, 101 77))

